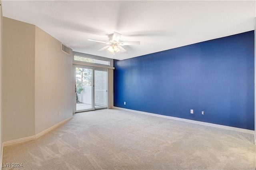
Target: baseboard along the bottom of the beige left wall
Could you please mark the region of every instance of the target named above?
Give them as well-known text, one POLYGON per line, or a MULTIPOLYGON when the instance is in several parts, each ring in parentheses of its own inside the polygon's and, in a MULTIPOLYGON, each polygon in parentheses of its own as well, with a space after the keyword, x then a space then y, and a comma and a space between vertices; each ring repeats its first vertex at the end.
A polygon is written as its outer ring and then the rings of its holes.
MULTIPOLYGON (((28 136, 28 137, 25 137, 25 138, 19 138, 19 139, 14 139, 14 140, 10 140, 10 141, 7 141, 7 142, 3 142, 2 144, 2 148, 4 146, 9 146, 9 145, 12 145, 12 144, 18 144, 18 143, 22 143, 22 142, 26 142, 26 141, 29 141, 29 140, 33 140, 33 139, 36 139, 36 138, 39 138, 40 136, 46 134, 47 132, 49 132, 50 130, 66 123, 67 121, 69 121, 70 119, 72 119, 73 116, 69 117, 68 119, 65 119, 64 121, 61 121, 60 123, 57 123, 56 125, 53 125, 52 127, 34 135, 34 136, 28 136)), ((2 150, 3 152, 3 150, 2 150)), ((1 153, 2 154, 2 153, 1 153)))

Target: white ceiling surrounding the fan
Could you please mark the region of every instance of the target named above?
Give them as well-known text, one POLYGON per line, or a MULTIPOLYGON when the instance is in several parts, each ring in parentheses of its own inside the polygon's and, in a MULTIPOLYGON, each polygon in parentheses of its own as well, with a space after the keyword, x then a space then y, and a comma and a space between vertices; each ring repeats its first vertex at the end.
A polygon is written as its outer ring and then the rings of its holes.
POLYGON ((97 51, 113 32, 124 46, 116 59, 127 59, 254 30, 251 1, 14 1, 2 0, 3 16, 34 24, 74 51, 113 58, 97 51))

